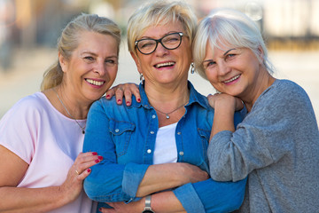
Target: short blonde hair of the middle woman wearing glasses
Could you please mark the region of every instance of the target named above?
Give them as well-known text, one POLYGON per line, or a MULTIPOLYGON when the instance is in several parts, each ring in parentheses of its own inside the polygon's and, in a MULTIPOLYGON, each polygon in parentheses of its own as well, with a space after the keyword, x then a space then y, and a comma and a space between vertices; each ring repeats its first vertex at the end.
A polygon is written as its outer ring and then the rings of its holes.
POLYGON ((128 20, 128 51, 136 55, 135 42, 146 28, 172 23, 176 20, 182 22, 185 36, 188 36, 192 43, 197 18, 188 4, 183 1, 165 0, 143 4, 128 20))

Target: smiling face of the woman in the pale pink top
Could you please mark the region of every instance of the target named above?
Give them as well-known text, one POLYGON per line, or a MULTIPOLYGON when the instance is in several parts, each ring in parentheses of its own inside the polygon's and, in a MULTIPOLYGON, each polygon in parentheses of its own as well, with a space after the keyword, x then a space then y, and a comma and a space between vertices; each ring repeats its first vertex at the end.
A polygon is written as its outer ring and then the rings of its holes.
POLYGON ((118 70, 118 47, 113 36, 83 32, 71 59, 59 54, 63 85, 69 97, 94 101, 113 84, 118 70))

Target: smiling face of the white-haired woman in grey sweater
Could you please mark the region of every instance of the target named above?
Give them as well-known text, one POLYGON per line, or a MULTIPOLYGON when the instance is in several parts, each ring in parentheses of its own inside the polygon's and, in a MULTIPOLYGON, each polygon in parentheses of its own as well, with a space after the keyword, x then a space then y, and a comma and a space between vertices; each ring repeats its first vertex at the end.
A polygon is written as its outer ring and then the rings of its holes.
POLYGON ((223 46, 212 51, 207 43, 203 67, 217 91, 253 103, 268 87, 270 75, 261 61, 248 48, 223 46))

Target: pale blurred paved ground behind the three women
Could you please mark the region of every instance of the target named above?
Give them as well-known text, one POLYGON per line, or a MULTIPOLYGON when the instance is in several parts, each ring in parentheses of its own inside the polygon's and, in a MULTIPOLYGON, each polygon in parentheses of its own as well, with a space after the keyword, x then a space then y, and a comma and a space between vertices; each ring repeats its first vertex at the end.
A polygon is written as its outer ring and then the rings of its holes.
MULTIPOLYGON (((270 51, 277 68, 277 77, 299 83, 309 95, 319 122, 319 51, 270 51)), ((56 51, 34 49, 16 51, 12 69, 0 70, 0 118, 19 99, 39 91, 44 70, 57 59, 56 51)), ((191 82, 204 95, 214 93, 212 86, 199 75, 190 75, 191 82)), ((115 84, 139 82, 133 59, 126 48, 121 50, 119 74, 115 84)))

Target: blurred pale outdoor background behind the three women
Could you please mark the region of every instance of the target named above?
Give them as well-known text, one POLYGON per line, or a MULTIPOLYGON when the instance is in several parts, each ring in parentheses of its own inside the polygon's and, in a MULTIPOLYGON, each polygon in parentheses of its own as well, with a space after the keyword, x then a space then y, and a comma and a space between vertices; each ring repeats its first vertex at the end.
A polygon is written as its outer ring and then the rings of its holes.
MULTIPOLYGON (((147 0, 0 0, 0 118, 19 99, 40 90, 43 72, 57 59, 56 43, 74 16, 97 13, 123 29, 117 83, 138 83, 126 44, 129 16, 147 0)), ((158 1, 158 0, 156 0, 158 1)), ((299 83, 319 117, 319 0, 185 0, 200 20, 216 7, 245 12, 261 28, 276 77, 299 83)), ((212 86, 196 73, 204 95, 212 86)))

